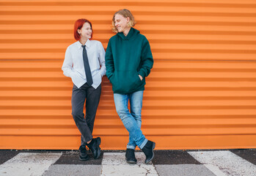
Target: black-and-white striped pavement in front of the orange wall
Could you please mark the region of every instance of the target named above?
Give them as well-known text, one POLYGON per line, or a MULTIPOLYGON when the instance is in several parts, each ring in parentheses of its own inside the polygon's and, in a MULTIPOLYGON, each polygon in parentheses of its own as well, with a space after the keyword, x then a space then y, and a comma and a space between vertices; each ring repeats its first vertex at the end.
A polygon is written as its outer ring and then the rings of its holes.
POLYGON ((103 150, 99 159, 78 160, 78 150, 0 150, 0 176, 256 176, 256 150, 155 150, 145 164, 125 162, 124 150, 103 150))

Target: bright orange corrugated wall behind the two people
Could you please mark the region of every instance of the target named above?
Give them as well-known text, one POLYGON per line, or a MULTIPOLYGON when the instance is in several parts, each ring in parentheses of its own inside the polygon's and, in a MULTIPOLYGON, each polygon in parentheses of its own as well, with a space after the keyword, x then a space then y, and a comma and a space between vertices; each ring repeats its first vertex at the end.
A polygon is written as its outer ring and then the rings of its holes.
MULTIPOLYGON (((0 1, 0 148, 78 149, 61 70, 73 23, 92 21, 106 49, 122 8, 153 51, 142 131, 156 149, 255 148, 255 0, 0 1)), ((105 76, 94 136, 125 149, 112 94, 105 76)))

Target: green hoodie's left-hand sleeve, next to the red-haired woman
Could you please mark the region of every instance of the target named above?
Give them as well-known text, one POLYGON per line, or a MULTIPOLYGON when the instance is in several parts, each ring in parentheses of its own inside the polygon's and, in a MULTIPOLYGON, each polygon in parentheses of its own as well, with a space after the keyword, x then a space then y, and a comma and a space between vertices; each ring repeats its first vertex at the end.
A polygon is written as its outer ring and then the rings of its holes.
POLYGON ((114 60, 111 49, 111 40, 109 40, 108 47, 106 48, 106 76, 110 79, 114 73, 114 60))

